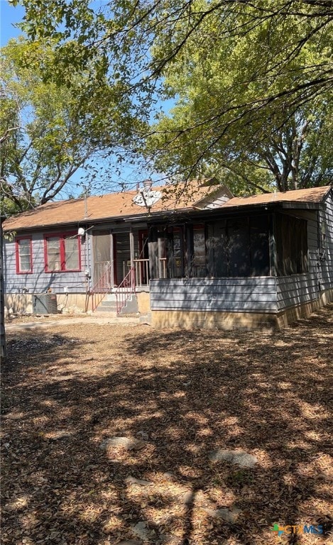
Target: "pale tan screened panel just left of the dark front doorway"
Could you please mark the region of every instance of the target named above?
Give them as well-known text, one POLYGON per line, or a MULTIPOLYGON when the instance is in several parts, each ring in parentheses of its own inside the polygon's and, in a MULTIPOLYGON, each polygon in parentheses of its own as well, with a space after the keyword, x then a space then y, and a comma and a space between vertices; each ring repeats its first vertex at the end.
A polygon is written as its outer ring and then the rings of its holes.
POLYGON ((114 256, 111 260, 111 234, 109 231, 94 231, 92 240, 94 255, 94 287, 97 291, 108 291, 111 287, 114 287, 114 284, 116 283, 114 256))

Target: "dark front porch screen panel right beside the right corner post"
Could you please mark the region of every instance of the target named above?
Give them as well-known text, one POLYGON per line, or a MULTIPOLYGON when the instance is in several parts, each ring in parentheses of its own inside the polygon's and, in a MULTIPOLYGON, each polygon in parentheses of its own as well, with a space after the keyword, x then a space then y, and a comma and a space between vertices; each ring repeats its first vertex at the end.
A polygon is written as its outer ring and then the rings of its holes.
POLYGON ((270 274, 268 216, 250 218, 251 275, 270 274))

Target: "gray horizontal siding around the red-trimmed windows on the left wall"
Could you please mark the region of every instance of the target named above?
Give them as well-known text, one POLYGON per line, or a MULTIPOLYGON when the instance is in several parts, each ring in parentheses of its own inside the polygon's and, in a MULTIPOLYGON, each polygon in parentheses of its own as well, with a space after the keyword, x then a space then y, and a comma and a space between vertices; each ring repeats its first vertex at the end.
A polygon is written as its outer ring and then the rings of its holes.
POLYGON ((55 293, 63 293, 64 287, 68 287, 70 293, 84 293, 86 291, 84 270, 89 269, 86 245, 87 241, 81 245, 80 271, 45 272, 43 233, 33 233, 33 272, 31 274, 17 275, 15 241, 5 241, 5 292, 18 293, 26 289, 30 293, 43 293, 51 289, 55 293))

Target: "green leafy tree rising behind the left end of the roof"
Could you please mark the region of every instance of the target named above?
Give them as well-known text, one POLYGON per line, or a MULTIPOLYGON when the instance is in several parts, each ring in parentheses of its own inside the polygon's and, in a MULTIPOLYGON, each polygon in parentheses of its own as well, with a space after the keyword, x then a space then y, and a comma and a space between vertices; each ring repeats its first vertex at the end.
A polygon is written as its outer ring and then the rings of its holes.
POLYGON ((45 80, 43 67, 55 65, 55 50, 42 41, 11 40, 0 62, 3 212, 75 192, 70 185, 79 169, 90 189, 117 181, 115 158, 121 160, 138 124, 122 84, 90 79, 89 70, 68 72, 70 84, 45 80))

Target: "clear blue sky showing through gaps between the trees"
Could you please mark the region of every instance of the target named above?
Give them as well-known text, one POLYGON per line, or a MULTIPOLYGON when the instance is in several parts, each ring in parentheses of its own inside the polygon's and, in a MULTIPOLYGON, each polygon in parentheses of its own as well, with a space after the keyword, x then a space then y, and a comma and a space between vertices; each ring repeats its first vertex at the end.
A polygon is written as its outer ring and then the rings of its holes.
MULTIPOLYGON (((99 4, 100 2, 97 1, 96 3, 99 4)), ((21 34, 20 29, 16 28, 14 25, 15 23, 19 23, 20 21, 22 21, 23 16, 24 9, 22 6, 13 7, 11 6, 11 4, 8 3, 7 0, 0 0, 1 46, 6 45, 10 38, 16 38, 18 35, 21 34)), ((74 194, 80 194, 80 192, 82 192, 82 187, 78 187, 77 189, 75 189, 75 184, 80 183, 81 175, 82 171, 79 170, 72 179, 73 186, 71 187, 71 192, 74 194)), ((119 182, 119 184, 125 182, 126 185, 129 186, 129 189, 133 189, 134 187, 136 187, 136 182, 142 182, 147 177, 152 177, 153 180, 158 180, 159 178, 158 175, 152 175, 151 172, 144 170, 142 166, 138 167, 134 165, 125 165, 123 163, 123 165, 121 165, 121 176, 117 178, 116 175, 114 175, 112 179, 114 180, 114 182, 119 182)), ((112 184, 112 186, 114 186, 114 184, 112 184)), ((109 189, 105 187, 104 189, 104 187, 102 187, 98 191, 98 193, 105 193, 110 190, 114 189, 111 189, 111 187, 109 189)), ((60 198, 66 198, 66 194, 62 194, 60 198)))

